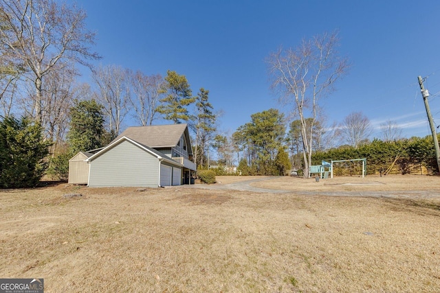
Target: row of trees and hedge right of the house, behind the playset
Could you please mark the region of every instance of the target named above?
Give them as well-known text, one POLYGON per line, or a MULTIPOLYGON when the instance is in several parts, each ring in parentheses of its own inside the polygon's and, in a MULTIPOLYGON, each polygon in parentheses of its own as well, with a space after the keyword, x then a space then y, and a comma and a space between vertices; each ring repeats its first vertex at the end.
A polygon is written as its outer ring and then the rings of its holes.
MULTIPOLYGON (((305 119, 309 132, 312 119, 305 119)), ((251 115, 251 121, 237 128, 229 137, 217 135, 214 148, 221 165, 239 162, 243 175, 287 175, 291 171, 306 176, 300 120, 288 122, 276 109, 251 115), (288 127, 286 127, 288 126, 288 127), (232 159, 232 158, 235 159, 232 159)), ((373 131, 362 113, 351 113, 339 125, 325 127, 315 122, 311 165, 322 161, 367 160, 367 174, 434 174, 438 172, 433 139, 400 137, 392 121, 380 126, 382 138, 369 139, 373 131)), ((353 175, 354 163, 343 163, 340 175, 353 175)), ((224 174, 217 170, 218 174, 224 174)), ((361 174, 358 171, 358 174, 361 174)))

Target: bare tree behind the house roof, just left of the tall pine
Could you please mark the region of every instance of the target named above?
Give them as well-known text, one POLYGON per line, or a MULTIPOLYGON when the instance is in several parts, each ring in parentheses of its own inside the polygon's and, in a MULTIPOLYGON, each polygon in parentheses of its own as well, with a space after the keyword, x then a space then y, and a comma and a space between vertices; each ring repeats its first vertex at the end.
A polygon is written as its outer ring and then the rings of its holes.
POLYGON ((131 105, 142 126, 153 124, 157 118, 159 99, 164 95, 165 80, 162 75, 144 75, 141 71, 129 71, 131 105))

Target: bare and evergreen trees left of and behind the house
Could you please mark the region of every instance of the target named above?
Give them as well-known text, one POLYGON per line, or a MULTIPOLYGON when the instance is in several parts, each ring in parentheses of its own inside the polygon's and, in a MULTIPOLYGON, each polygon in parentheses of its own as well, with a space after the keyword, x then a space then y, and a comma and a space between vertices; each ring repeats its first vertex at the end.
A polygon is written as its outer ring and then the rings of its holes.
MULTIPOLYGON (((70 156, 106 145, 127 119, 140 126, 165 119, 190 126, 196 163, 206 163, 206 143, 217 119, 209 91, 201 88, 193 96, 186 76, 171 70, 162 76, 94 66, 101 56, 91 49, 96 35, 85 25, 86 18, 75 4, 0 0, 1 153, 12 156, 13 145, 28 152, 25 141, 10 139, 20 131, 32 132, 49 147, 47 153, 34 154, 39 169, 49 166, 50 173, 65 178, 70 156), (90 84, 78 82, 79 67, 90 69, 90 84)), ((18 163, 6 162, 2 178, 18 163)))

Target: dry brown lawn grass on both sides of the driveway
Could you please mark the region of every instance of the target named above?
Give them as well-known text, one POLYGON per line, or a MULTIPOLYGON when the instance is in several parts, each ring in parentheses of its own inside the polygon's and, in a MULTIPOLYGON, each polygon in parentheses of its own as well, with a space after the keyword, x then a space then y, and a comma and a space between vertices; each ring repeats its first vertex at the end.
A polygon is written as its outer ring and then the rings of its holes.
MULTIPOLYGON (((358 186, 301 180, 253 184, 358 186)), ((0 191, 0 277, 41 277, 45 292, 439 291, 440 200, 295 190, 0 191), (83 196, 63 198, 73 192, 83 196)))

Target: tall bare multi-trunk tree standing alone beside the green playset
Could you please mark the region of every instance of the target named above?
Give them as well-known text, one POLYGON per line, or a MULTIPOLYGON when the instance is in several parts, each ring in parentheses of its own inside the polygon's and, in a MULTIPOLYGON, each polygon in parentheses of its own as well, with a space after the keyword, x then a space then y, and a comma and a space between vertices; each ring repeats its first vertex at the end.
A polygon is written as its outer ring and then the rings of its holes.
POLYGON ((272 88, 281 95, 280 102, 291 107, 291 115, 300 119, 306 177, 311 165, 319 100, 333 91, 333 84, 349 67, 347 58, 338 56, 338 43, 336 32, 326 33, 303 40, 296 49, 278 49, 267 59, 272 88), (309 125, 307 117, 311 119, 309 125))

